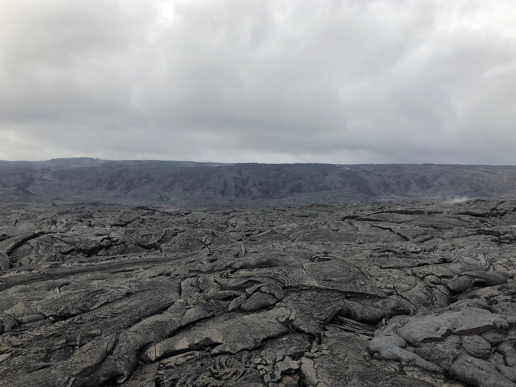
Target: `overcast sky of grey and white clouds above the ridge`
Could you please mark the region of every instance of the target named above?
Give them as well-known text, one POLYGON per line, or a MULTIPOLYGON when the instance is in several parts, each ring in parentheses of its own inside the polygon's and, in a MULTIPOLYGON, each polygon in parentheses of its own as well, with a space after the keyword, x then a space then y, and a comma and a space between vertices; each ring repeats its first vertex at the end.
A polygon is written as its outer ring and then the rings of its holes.
POLYGON ((0 159, 516 164, 514 0, 2 0, 0 159))

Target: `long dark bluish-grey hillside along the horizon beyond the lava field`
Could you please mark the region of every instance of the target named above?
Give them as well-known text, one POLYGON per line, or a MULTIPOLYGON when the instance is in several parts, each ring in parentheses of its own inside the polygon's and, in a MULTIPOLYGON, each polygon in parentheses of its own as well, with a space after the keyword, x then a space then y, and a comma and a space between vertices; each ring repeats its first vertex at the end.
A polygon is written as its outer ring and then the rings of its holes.
POLYGON ((516 196, 516 166, 0 161, 0 200, 292 202, 516 196))

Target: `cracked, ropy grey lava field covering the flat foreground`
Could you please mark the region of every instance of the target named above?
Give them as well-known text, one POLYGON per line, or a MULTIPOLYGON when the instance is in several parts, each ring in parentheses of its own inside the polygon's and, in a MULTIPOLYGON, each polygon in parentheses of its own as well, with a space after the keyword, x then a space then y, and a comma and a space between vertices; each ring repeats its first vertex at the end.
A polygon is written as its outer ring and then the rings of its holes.
POLYGON ((0 212, 2 386, 516 386, 516 200, 0 212))

